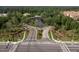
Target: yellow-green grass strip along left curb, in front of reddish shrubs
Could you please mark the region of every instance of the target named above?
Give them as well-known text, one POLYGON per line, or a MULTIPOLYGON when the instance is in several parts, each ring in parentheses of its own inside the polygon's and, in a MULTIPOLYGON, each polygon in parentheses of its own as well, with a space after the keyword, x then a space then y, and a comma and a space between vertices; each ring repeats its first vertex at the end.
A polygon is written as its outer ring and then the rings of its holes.
POLYGON ((0 35, 0 41, 1 42, 6 42, 6 41, 13 41, 13 42, 16 42, 18 40, 21 40, 22 37, 23 37, 23 33, 24 32, 21 32, 19 33, 18 35, 10 35, 10 34, 7 34, 7 35, 0 35))

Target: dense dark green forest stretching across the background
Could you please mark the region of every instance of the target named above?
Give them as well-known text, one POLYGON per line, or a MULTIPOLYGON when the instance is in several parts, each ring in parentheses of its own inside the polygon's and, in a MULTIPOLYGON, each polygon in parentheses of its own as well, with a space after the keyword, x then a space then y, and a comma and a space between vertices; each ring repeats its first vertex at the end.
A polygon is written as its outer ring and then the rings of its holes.
POLYGON ((35 21, 31 17, 39 15, 43 18, 45 26, 55 26, 56 30, 74 30, 79 34, 79 23, 68 16, 62 14, 63 11, 79 11, 79 7, 32 7, 32 6, 2 6, 0 7, 0 14, 7 14, 7 16, 0 16, 0 33, 13 32, 18 27, 22 27, 23 23, 35 26, 35 21), (29 13, 30 15, 23 16, 29 13))

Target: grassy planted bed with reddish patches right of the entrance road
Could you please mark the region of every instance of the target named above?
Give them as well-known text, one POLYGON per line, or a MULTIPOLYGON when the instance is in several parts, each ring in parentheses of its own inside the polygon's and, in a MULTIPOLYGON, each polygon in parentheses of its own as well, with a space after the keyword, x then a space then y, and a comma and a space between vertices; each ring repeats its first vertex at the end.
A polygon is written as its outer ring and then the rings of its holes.
POLYGON ((79 35, 74 32, 74 30, 63 31, 59 30, 51 30, 49 31, 49 37, 52 39, 52 36, 55 40, 61 42, 79 42, 79 35), (52 33, 52 35, 51 35, 52 33))

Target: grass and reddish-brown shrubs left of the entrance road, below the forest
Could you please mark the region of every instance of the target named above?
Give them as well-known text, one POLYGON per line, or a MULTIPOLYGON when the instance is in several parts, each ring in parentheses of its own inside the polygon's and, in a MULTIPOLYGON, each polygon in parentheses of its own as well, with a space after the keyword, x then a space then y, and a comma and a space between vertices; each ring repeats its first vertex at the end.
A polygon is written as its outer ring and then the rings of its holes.
MULTIPOLYGON (((19 27, 16 27, 12 29, 11 31, 0 30, 0 42, 7 42, 7 41, 17 42, 17 41, 22 40, 25 31, 21 31, 21 30, 22 28, 19 28, 19 27)), ((27 38, 28 33, 29 31, 26 30, 25 38, 27 38)))

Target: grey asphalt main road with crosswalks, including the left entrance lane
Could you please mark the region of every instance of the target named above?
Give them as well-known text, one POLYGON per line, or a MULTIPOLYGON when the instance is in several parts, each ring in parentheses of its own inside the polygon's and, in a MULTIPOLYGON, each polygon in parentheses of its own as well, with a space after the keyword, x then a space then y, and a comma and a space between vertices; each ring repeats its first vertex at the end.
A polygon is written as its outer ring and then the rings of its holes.
POLYGON ((37 40, 36 31, 32 29, 20 44, 0 44, 0 52, 79 52, 79 43, 56 43, 48 38, 37 40))

